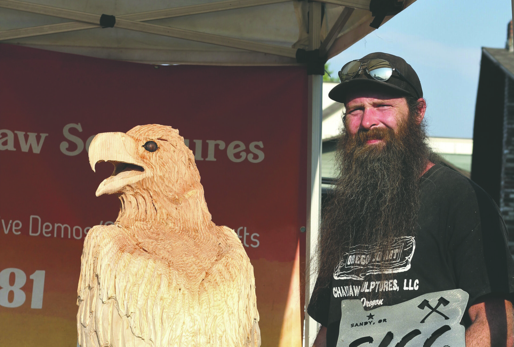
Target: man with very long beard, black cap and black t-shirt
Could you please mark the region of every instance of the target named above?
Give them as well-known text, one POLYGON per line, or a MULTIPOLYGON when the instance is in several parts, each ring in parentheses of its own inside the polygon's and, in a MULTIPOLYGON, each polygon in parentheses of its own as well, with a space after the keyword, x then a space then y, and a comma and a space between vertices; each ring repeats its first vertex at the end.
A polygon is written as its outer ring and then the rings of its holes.
POLYGON ((416 72, 377 52, 347 63, 339 77, 329 97, 345 105, 340 176, 308 306, 321 324, 314 345, 338 344, 342 300, 371 310, 460 288, 469 294, 466 346, 512 346, 507 229, 486 192, 440 164, 428 146, 416 72))

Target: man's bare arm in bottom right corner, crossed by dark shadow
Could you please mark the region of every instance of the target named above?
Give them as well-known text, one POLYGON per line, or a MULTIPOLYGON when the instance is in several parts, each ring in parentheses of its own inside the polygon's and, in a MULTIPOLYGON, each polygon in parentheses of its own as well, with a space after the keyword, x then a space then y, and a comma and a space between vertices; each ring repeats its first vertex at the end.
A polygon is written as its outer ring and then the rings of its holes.
POLYGON ((512 303, 488 298, 469 307, 471 325, 466 330, 466 347, 512 347, 514 319, 512 303))

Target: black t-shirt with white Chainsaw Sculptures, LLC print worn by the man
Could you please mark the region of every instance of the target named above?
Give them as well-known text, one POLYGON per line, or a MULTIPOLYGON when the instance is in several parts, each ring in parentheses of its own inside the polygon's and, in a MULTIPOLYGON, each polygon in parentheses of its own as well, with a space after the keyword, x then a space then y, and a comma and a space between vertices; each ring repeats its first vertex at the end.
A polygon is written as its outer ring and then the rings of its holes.
MULTIPOLYGON (((373 245, 352 248, 336 267, 331 287, 315 289, 318 295, 311 298, 307 312, 327 327, 327 347, 337 343, 341 300, 358 299, 371 310, 460 288, 469 294, 469 308, 483 295, 514 293, 507 228, 486 192, 436 164, 421 177, 420 199, 415 237, 396 239, 387 255, 374 252, 373 245), (370 280, 377 263, 388 269, 391 280, 370 280), (361 264, 366 270, 355 272, 361 264)), ((467 314, 465 318, 469 320, 467 314)))

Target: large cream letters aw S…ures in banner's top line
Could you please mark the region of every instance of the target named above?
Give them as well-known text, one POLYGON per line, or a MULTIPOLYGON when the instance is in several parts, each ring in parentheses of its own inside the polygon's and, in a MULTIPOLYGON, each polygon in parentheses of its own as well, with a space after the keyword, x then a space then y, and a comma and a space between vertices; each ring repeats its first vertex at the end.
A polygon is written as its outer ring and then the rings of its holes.
MULTIPOLYGON (((28 152, 31 148, 33 153, 40 153, 41 148, 43 147, 43 142, 48 136, 47 133, 40 133, 40 140, 38 142, 36 138, 38 133, 27 132, 28 138, 25 140, 24 131, 14 132, 17 134, 20 148, 23 152, 28 152)), ((86 152, 88 152, 89 145, 95 137, 95 135, 89 136, 84 143, 84 141, 77 136, 77 132, 82 132, 82 125, 80 123, 66 124, 63 127, 62 132, 66 140, 60 143, 59 149, 64 155, 71 157, 79 155, 83 152, 84 149, 86 152)), ((202 157, 202 145, 204 140, 193 140, 193 142, 194 150, 193 148, 190 149, 194 152, 194 159, 196 161, 204 160, 204 157, 202 157)), ((234 163, 241 163, 245 160, 248 160, 250 163, 260 163, 264 160, 264 152, 261 150, 264 148, 262 141, 250 142, 250 145, 248 146, 248 152, 245 151, 247 147, 242 141, 232 141, 228 146, 226 145, 225 141, 222 140, 206 140, 206 142, 206 161, 216 161, 216 156, 219 156, 220 151, 224 151, 225 149, 227 151, 228 159, 234 163)), ((184 139, 184 143, 189 147, 188 139, 184 139)), ((16 150, 14 146, 14 133, 11 130, 0 129, 0 150, 16 150)))

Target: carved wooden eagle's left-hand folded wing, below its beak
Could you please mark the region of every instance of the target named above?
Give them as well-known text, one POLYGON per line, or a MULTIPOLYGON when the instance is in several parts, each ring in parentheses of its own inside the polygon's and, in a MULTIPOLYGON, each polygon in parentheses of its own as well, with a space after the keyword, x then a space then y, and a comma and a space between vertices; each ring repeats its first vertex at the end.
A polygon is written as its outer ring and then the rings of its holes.
MULTIPOLYGON (((97 225, 89 230, 84 240, 77 291, 77 331, 81 347, 151 345, 134 326, 134 307, 125 300, 126 295, 134 296, 138 287, 128 279, 140 278, 131 269, 134 257, 121 252, 123 248, 133 247, 131 241, 130 236, 115 225, 97 225), (128 286, 132 291, 126 291, 128 286)), ((138 305, 137 300, 131 301, 138 305)))

